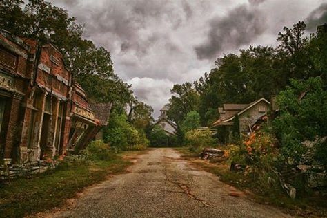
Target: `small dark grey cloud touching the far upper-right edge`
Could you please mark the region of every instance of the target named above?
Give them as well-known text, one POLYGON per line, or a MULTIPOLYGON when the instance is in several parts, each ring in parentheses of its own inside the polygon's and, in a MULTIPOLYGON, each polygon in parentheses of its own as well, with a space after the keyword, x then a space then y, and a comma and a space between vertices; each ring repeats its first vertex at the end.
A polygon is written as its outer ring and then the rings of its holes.
POLYGON ((310 12, 306 23, 309 31, 315 31, 317 25, 327 23, 327 3, 322 3, 313 12, 310 12))

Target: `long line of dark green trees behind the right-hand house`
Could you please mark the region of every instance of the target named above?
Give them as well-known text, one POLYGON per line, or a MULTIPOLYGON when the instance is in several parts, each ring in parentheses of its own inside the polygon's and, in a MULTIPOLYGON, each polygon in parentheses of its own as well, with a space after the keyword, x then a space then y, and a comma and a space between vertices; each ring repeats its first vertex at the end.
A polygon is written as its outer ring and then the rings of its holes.
POLYGON ((270 100, 291 79, 319 76, 326 84, 325 33, 307 36, 305 30, 303 21, 284 27, 276 47, 250 46, 239 54, 224 54, 199 80, 174 85, 168 117, 181 124, 190 111, 197 111, 201 126, 208 126, 217 120, 217 108, 224 103, 270 100))

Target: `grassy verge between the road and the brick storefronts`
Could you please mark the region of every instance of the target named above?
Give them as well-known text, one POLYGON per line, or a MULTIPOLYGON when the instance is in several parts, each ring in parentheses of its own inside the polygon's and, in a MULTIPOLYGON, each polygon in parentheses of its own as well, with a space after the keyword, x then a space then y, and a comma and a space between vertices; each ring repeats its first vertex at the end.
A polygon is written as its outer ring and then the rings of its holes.
POLYGON ((31 179, 16 179, 0 184, 0 217, 24 217, 66 204, 86 186, 100 182, 110 174, 121 173, 132 164, 121 155, 90 164, 64 162, 53 171, 31 179))

